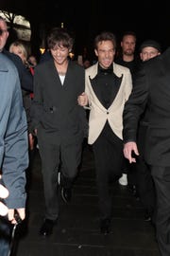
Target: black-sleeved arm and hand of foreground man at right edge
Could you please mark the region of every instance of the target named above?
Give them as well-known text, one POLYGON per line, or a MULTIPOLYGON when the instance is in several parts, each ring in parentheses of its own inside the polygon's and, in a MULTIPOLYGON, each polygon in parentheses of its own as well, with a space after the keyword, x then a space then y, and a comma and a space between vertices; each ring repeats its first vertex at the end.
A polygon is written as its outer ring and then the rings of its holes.
POLYGON ((135 162, 135 155, 139 155, 136 145, 138 123, 144 112, 148 100, 146 76, 141 68, 135 76, 132 92, 125 103, 123 112, 123 140, 124 155, 129 162, 135 162))

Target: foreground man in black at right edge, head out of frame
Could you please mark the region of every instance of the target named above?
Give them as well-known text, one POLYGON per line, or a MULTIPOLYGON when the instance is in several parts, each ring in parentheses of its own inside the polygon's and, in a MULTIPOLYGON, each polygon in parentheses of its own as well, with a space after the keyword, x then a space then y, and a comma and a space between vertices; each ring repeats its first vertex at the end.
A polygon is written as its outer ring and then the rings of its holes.
POLYGON ((142 66, 124 109, 124 155, 136 162, 138 121, 148 108, 144 158, 157 193, 156 232, 161 256, 170 255, 170 47, 142 66), (133 155, 134 154, 134 155, 133 155), (135 156, 136 155, 136 156, 135 156))

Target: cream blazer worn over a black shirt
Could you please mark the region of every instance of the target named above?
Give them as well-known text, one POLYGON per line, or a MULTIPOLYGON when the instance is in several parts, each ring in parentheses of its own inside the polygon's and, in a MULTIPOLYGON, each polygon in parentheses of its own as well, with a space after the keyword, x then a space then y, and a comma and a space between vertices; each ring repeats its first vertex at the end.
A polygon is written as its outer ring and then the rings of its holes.
POLYGON ((117 77, 123 76, 120 88, 110 108, 106 109, 97 99, 93 92, 90 79, 97 75, 98 63, 93 64, 86 69, 85 74, 85 92, 88 95, 90 116, 89 116, 89 136, 88 143, 93 144, 102 132, 106 121, 110 123, 110 128, 117 137, 122 137, 123 130, 123 110, 124 104, 128 99, 132 89, 131 74, 127 67, 113 63, 113 72, 117 77))

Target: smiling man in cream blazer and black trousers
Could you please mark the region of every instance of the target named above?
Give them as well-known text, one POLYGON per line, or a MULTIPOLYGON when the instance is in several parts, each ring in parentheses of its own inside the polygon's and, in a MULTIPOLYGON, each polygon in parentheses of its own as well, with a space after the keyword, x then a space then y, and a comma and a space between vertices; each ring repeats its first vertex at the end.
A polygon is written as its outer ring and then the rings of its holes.
POLYGON ((89 102, 89 137, 93 145, 96 185, 100 210, 100 231, 110 233, 110 181, 121 176, 123 165, 123 110, 131 92, 130 71, 113 62, 116 41, 110 32, 94 39, 98 62, 86 69, 85 94, 78 97, 80 105, 89 102))

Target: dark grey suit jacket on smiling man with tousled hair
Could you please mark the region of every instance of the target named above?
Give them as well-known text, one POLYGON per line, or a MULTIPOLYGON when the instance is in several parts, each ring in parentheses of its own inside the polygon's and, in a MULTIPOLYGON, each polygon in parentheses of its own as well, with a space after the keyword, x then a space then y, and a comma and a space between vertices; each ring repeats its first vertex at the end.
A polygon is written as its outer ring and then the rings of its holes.
POLYGON ((84 80, 84 68, 72 61, 63 85, 52 58, 36 66, 31 117, 38 133, 56 143, 82 141, 88 126, 77 97, 85 90, 84 80))

